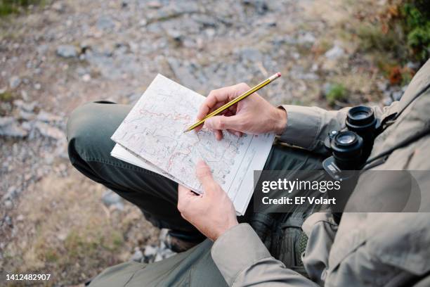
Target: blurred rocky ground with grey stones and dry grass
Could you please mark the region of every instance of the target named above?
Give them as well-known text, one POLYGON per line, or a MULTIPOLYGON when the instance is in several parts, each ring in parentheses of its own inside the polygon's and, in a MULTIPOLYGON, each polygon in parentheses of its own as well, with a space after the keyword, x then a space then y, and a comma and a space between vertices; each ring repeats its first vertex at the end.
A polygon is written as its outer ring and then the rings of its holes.
POLYGON ((58 0, 0 20, 0 280, 37 272, 52 274, 48 285, 74 285, 143 253, 168 255, 136 208, 68 162, 74 108, 133 103, 157 73, 207 94, 278 71, 261 91, 275 105, 390 103, 402 87, 388 84, 348 32, 382 5, 58 0), (340 84, 345 91, 329 101, 340 84))

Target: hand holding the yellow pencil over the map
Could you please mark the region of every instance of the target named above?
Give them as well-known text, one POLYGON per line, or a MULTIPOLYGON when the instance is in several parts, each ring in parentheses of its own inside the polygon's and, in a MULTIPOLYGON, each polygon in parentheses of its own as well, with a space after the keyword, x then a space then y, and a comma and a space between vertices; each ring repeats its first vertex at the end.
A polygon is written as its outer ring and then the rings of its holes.
MULTIPOLYGON (((247 90, 249 90, 249 86, 241 83, 211 91, 202 106, 200 106, 197 119, 201 120, 207 114, 247 90)), ((223 133, 221 132, 223 129, 237 136, 241 136, 244 132, 248 134, 263 134, 266 132, 282 134, 286 125, 287 113, 285 110, 275 108, 256 93, 247 96, 247 98, 228 108, 222 115, 216 115, 204 122, 204 127, 213 130, 218 140, 223 138, 223 133)), ((195 130, 198 132, 200 129, 202 129, 201 125, 195 130)))

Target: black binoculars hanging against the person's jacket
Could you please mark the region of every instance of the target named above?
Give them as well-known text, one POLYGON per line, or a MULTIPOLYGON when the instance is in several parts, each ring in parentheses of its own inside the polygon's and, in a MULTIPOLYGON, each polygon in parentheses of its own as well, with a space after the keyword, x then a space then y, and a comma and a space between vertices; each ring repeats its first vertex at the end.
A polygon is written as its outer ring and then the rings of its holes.
POLYGON ((338 176, 341 170, 359 169, 370 155, 377 119, 371 108, 355 106, 348 111, 345 125, 346 129, 331 131, 325 139, 332 156, 324 160, 323 167, 338 176))

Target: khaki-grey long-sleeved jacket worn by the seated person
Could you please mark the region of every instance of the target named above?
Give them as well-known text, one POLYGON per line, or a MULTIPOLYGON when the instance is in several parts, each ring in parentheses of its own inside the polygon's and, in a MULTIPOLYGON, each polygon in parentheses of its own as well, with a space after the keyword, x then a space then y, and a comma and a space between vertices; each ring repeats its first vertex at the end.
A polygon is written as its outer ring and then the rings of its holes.
MULTIPOLYGON (((430 60, 412 79, 401 101, 374 108, 382 120, 405 110, 377 136, 371 157, 430 125, 429 84, 430 60)), ((283 107, 287 127, 280 139, 318 153, 324 152, 327 133, 344 126, 347 113, 347 109, 283 107)), ((427 134, 396 149, 374 169, 430 170, 429 154, 427 134)), ((426 172, 419 182, 422 191, 430 191, 426 172)), ((372 182, 359 179, 354 193, 372 188, 372 182)), ((422 193, 421 206, 429 209, 430 192, 422 193)), ((248 224, 239 224, 218 238, 211 255, 230 286, 410 286, 430 272, 429 213, 344 213, 339 226, 330 214, 315 213, 302 229, 308 235, 302 260, 312 281, 271 257, 248 224)))

